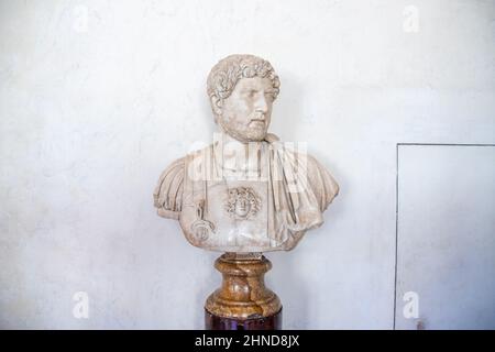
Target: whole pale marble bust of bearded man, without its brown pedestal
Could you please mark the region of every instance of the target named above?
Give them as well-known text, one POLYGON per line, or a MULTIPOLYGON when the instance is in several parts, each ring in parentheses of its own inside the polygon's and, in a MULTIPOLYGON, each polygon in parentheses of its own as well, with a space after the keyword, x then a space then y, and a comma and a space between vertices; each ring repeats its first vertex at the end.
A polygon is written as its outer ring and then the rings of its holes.
POLYGON ((292 250, 339 193, 302 148, 268 133, 279 79, 253 55, 221 59, 207 80, 219 132, 173 162, 154 191, 160 216, 179 221, 198 248, 234 253, 292 250))

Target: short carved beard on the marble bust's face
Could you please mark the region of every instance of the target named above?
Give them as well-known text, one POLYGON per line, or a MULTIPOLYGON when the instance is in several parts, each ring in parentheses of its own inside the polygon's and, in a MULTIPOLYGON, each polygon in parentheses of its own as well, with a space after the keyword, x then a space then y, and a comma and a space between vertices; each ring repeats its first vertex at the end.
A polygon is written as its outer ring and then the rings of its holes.
POLYGON ((222 130, 241 142, 260 142, 263 141, 268 131, 268 119, 263 117, 262 113, 255 112, 249 119, 248 123, 238 122, 230 118, 218 117, 218 121, 222 130), (264 120, 264 122, 257 122, 253 120, 264 120))

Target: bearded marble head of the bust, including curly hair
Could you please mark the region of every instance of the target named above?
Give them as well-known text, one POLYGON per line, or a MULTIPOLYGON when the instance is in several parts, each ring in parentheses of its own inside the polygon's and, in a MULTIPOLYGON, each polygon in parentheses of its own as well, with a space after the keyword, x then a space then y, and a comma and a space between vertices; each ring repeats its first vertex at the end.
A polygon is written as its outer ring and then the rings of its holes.
POLYGON ((216 122, 241 142, 263 141, 280 82, 272 65, 254 55, 230 55, 210 72, 207 92, 216 122))

